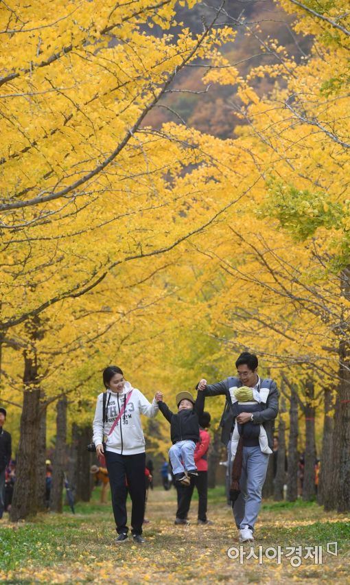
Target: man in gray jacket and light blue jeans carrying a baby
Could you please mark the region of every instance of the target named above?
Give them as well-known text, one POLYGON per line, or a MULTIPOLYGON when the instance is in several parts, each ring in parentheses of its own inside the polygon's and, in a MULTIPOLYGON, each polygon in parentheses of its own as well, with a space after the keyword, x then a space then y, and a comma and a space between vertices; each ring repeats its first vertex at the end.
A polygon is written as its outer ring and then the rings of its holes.
MULTIPOLYGON (((275 418, 279 409, 279 392, 273 380, 260 380, 257 374, 257 356, 244 352, 235 363, 237 378, 229 377, 216 384, 207 384, 204 378, 198 382, 198 389, 205 391, 205 396, 226 396, 226 404, 220 426, 222 442, 227 446, 229 462, 231 459, 231 435, 235 420, 237 423, 262 424, 268 435, 268 445, 272 448, 275 418), (235 417, 232 409, 234 391, 237 387, 248 386, 252 390, 264 393, 261 400, 261 411, 255 413, 242 412, 235 417)), ((242 452, 242 474, 240 477, 240 496, 233 506, 235 523, 240 529, 240 542, 253 542, 253 531, 261 506, 261 490, 266 478, 268 457, 261 452, 259 439, 244 439, 242 452)))

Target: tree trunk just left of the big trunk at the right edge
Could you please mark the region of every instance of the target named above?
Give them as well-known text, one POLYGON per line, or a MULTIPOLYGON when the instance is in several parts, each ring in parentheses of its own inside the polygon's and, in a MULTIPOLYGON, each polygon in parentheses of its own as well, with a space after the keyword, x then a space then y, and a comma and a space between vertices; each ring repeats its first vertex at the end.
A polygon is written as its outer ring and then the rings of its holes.
POLYGON ((322 453, 320 456, 320 481, 318 484, 317 501, 323 504, 325 509, 331 509, 329 505, 333 498, 333 418, 329 416, 333 408, 332 391, 325 388, 325 417, 323 422, 322 453))

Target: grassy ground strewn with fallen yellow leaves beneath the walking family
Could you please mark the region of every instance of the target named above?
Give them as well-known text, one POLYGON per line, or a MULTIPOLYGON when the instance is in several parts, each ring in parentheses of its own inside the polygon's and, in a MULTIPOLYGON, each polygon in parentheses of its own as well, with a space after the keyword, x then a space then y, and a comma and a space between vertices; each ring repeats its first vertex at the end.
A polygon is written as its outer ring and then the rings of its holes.
POLYGON ((98 497, 96 491, 90 504, 78 504, 75 515, 65 509, 12 525, 6 514, 0 521, 0 582, 349 583, 350 518, 323 512, 316 503, 267 501, 255 546, 240 547, 224 488, 209 490, 214 524, 205 527, 196 523, 195 496, 190 524, 175 526, 176 492, 156 488, 148 500, 145 544, 130 538, 116 545, 111 507, 98 497), (331 554, 336 546, 337 555, 331 554))

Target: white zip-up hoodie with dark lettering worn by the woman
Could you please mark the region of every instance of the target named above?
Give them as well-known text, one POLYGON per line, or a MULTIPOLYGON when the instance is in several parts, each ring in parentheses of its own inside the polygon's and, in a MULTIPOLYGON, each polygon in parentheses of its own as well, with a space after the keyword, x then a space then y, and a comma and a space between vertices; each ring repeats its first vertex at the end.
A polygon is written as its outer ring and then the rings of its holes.
POLYGON ((107 391, 107 422, 104 423, 103 395, 104 393, 102 392, 97 396, 95 418, 93 420, 93 442, 95 446, 102 444, 102 439, 105 436, 106 450, 108 451, 113 451, 120 455, 137 455, 145 452, 145 437, 143 436, 140 415, 156 416, 158 413, 156 400, 153 400, 152 404, 150 404, 139 390, 132 388, 130 382, 125 382, 122 392, 107 391), (126 404, 124 414, 121 415, 115 425, 113 433, 108 435, 131 391, 132 395, 128 404, 126 404))

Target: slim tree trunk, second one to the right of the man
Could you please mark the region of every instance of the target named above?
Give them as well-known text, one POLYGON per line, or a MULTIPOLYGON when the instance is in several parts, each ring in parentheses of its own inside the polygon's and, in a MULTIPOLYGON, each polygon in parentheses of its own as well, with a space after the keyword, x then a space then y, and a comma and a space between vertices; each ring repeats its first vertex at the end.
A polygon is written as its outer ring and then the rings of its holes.
POLYGON ((287 500, 295 502, 298 497, 298 399, 296 389, 291 388, 290 410, 289 410, 289 440, 288 440, 288 472, 287 472, 287 500))

